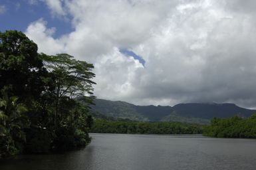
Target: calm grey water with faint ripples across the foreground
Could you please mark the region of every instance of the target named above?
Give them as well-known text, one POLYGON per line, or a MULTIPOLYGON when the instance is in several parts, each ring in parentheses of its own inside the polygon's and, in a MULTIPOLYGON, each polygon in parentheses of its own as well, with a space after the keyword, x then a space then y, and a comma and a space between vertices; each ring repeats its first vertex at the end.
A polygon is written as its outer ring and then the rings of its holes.
POLYGON ((256 140, 200 135, 91 134, 80 151, 21 155, 1 160, 1 170, 256 169, 256 140))

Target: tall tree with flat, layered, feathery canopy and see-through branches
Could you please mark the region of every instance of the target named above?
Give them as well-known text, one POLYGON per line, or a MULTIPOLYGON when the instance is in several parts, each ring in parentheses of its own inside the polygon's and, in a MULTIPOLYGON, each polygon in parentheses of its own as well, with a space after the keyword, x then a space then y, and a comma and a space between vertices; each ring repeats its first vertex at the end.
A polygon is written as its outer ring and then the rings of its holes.
POLYGON ((64 108, 68 106, 74 99, 85 100, 87 104, 92 104, 94 96, 92 96, 92 84, 95 84, 91 79, 95 74, 92 72, 94 66, 85 61, 74 59, 68 54, 57 54, 49 56, 41 54, 43 64, 48 72, 51 72, 51 80, 54 90, 49 91, 49 94, 55 98, 55 129, 63 120, 64 108), (62 111, 62 112, 61 112, 62 111))

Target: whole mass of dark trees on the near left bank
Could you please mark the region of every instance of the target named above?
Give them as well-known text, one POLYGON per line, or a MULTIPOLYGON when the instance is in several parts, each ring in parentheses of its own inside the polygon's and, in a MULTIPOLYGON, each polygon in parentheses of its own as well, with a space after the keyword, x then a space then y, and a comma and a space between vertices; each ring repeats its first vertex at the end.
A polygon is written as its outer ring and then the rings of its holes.
POLYGON ((0 157, 90 142, 92 68, 68 54, 39 54, 21 32, 0 33, 0 157))

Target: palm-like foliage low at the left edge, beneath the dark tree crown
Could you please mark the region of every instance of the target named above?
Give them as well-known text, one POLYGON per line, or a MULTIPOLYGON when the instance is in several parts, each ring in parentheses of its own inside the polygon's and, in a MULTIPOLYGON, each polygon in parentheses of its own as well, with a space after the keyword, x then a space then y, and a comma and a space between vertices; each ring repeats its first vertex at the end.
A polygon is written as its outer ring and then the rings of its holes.
POLYGON ((29 126, 27 111, 24 104, 19 104, 18 98, 7 95, 7 88, 1 90, 0 98, 0 155, 15 155, 23 150, 25 133, 22 130, 29 126))

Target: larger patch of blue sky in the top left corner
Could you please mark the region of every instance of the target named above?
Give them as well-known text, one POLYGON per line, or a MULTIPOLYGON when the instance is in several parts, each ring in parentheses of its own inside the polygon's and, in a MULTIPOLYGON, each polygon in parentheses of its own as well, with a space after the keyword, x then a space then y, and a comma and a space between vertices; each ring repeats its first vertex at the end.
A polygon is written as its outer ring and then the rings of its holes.
POLYGON ((25 32, 30 23, 39 19, 47 21, 47 27, 55 27, 56 32, 53 38, 59 38, 62 35, 73 31, 70 19, 61 19, 53 17, 47 5, 37 1, 34 5, 24 0, 3 0, 0 5, 5 7, 5 11, 0 13, 0 31, 17 30, 25 32))

